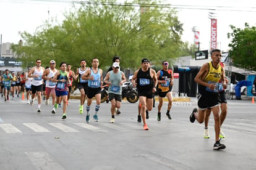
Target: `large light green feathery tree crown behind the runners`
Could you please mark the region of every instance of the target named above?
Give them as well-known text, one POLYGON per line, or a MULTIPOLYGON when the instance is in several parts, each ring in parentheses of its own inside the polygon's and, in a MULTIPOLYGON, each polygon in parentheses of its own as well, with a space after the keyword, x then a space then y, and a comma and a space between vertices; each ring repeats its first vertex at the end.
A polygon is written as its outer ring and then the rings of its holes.
MULTIPOLYGON (((163 60, 172 63, 176 57, 189 55, 186 42, 181 41, 182 23, 176 11, 156 3, 142 4, 96 0, 73 6, 59 25, 46 22, 35 34, 22 33, 23 46, 15 46, 24 66, 41 59, 57 64, 65 61, 73 68, 80 60, 97 57, 100 67, 109 68, 114 55, 121 57, 122 68, 136 69, 147 57, 158 65, 163 60)), ((57 65, 58 67, 58 65, 57 65)))

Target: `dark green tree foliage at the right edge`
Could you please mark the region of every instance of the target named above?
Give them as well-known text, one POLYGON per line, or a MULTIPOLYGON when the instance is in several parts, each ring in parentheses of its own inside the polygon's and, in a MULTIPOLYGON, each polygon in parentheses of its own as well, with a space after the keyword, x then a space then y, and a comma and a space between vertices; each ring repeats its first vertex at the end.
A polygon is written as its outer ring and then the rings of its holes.
POLYGON ((229 47, 229 55, 233 65, 256 71, 256 28, 245 23, 245 28, 236 28, 231 25, 233 33, 228 33, 228 38, 233 38, 229 47))

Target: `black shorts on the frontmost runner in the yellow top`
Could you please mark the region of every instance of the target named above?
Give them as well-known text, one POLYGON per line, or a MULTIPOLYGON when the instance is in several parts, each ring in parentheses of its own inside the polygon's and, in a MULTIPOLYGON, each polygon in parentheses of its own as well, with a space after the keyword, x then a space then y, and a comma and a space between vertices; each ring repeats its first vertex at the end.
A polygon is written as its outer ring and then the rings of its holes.
POLYGON ((197 105, 199 110, 205 110, 207 108, 213 108, 220 106, 220 94, 218 93, 205 93, 197 95, 197 105))

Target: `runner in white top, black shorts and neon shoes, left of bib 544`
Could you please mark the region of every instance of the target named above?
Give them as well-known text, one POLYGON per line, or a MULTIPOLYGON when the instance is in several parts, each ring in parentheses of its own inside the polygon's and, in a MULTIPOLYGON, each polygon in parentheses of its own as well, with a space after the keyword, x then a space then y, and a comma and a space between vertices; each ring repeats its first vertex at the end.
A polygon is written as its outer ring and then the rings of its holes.
POLYGON ((83 114, 83 104, 85 103, 85 99, 87 97, 87 88, 88 88, 88 80, 82 79, 82 75, 90 70, 89 67, 86 67, 86 60, 80 60, 80 68, 77 68, 77 73, 75 73, 75 80, 77 81, 77 86, 80 91, 80 105, 79 105, 79 113, 83 114))

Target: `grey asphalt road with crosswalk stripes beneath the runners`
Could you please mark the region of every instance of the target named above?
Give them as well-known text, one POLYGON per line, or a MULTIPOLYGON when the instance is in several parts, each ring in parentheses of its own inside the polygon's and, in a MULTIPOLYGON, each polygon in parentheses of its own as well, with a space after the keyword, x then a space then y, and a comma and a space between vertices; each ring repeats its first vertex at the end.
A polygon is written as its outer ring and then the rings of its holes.
POLYGON ((123 102, 114 124, 109 103, 101 104, 99 122, 92 119, 92 104, 89 124, 79 103, 69 101, 63 121, 62 108, 53 115, 44 101, 42 113, 36 113, 36 100, 30 106, 0 97, 0 169, 256 169, 256 103, 250 100, 228 100, 222 151, 213 150, 212 115, 210 139, 203 139, 203 124, 189 122, 195 98, 175 102, 171 120, 164 116, 165 102, 160 122, 156 103, 149 131, 137 123, 138 103, 123 102))

